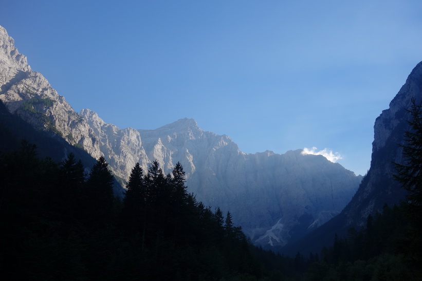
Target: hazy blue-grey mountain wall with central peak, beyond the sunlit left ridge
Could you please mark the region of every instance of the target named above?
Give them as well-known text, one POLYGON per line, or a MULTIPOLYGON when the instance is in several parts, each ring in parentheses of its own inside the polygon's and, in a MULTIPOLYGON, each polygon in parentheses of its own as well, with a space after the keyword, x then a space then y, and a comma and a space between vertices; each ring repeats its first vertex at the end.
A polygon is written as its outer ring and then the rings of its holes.
POLYGON ((323 156, 270 151, 245 154, 228 137, 206 132, 193 119, 154 130, 119 129, 91 110, 81 111, 116 173, 129 177, 139 161, 157 159, 169 173, 180 162, 189 191, 212 207, 230 211, 255 243, 284 245, 337 215, 361 177, 323 156))

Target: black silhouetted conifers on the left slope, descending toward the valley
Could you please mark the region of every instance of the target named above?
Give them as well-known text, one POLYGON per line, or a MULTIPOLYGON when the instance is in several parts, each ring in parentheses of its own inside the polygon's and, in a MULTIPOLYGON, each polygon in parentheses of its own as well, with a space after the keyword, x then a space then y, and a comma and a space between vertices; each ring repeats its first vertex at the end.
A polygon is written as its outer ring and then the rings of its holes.
POLYGON ((188 194, 177 163, 164 175, 139 163, 123 202, 104 158, 84 174, 70 154, 36 157, 33 145, 0 155, 0 278, 4 280, 258 279, 240 228, 188 194))

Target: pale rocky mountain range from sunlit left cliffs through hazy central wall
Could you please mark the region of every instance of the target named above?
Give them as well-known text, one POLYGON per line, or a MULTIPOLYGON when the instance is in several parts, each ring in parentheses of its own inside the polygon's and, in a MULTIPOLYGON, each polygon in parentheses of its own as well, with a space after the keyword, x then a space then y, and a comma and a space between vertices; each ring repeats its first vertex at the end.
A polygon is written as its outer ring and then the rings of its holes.
POLYGON ((282 246, 338 214, 362 179, 323 156, 288 151, 245 154, 228 137, 206 132, 193 119, 154 130, 120 129, 94 111, 76 113, 32 71, 0 27, 0 100, 35 128, 61 136, 91 156, 104 155, 115 175, 129 178, 136 162, 157 159, 165 173, 180 162, 189 192, 230 211, 258 245, 282 246))

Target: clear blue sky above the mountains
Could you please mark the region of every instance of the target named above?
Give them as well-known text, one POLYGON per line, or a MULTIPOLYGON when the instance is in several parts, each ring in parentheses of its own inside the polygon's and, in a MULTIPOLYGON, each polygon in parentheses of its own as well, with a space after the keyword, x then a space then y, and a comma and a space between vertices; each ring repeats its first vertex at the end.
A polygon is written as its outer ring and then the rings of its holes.
POLYGON ((0 2, 0 25, 76 110, 180 118, 246 153, 317 147, 356 174, 422 60, 421 1, 0 2))

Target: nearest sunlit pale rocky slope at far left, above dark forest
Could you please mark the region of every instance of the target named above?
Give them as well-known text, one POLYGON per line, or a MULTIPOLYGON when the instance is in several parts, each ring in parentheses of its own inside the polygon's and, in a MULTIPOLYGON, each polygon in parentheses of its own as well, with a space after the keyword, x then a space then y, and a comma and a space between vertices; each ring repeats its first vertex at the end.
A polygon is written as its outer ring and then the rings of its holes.
POLYGON ((83 147, 95 158, 101 156, 93 129, 65 98, 59 96, 41 73, 31 70, 13 39, 0 26, 0 100, 11 113, 20 115, 34 127, 63 137, 83 147))

